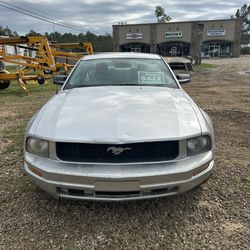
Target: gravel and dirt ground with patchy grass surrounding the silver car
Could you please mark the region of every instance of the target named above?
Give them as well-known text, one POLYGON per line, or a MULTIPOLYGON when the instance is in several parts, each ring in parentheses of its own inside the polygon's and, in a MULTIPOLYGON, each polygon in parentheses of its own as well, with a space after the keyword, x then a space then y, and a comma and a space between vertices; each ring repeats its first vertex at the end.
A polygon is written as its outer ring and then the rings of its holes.
POLYGON ((57 201, 22 171, 29 117, 54 87, 0 92, 0 249, 250 249, 250 57, 204 60, 184 89, 211 116, 215 168, 175 197, 57 201))

